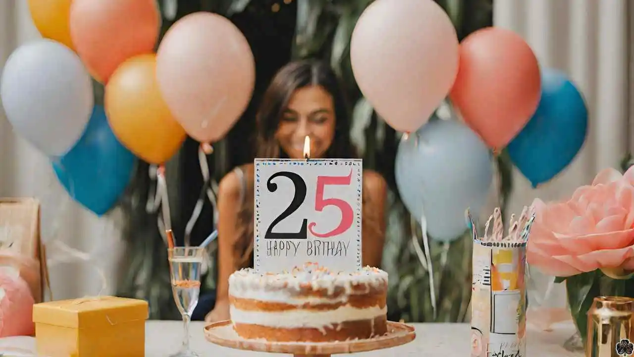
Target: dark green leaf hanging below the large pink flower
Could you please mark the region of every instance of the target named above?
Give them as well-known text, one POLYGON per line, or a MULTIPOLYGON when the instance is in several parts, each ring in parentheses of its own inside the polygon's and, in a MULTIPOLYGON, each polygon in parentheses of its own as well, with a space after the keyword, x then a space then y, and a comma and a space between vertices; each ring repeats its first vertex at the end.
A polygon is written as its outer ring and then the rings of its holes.
POLYGON ((570 313, 583 340, 586 338, 588 329, 588 310, 592 307, 594 298, 601 295, 599 274, 599 271, 591 271, 569 276, 566 279, 570 313))

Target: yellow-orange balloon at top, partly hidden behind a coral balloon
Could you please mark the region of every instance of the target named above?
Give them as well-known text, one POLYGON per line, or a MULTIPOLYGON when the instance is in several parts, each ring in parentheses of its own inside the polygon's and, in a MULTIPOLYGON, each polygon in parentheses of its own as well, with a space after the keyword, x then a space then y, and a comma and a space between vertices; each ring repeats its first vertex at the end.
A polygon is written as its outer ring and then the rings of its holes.
POLYGON ((75 50, 68 25, 71 3, 72 0, 29 0, 29 11, 42 37, 75 50))

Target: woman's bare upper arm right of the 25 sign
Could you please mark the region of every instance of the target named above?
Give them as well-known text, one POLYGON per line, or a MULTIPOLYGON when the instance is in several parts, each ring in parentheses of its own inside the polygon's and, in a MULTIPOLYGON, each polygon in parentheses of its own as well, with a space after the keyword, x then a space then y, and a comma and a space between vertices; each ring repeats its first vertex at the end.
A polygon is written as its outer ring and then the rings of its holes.
POLYGON ((385 243, 385 198, 387 183, 377 172, 363 172, 363 241, 361 253, 363 266, 380 267, 385 243))

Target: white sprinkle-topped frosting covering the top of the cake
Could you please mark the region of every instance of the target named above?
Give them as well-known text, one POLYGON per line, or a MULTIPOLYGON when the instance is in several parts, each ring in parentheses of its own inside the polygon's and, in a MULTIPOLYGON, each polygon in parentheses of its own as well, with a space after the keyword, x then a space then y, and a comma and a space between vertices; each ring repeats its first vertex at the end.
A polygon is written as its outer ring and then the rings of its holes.
POLYGON ((387 273, 364 267, 354 273, 332 273, 316 264, 306 264, 289 273, 258 273, 255 269, 242 269, 229 278, 229 295, 240 299, 255 299, 267 302, 285 302, 287 304, 337 304, 346 302, 353 293, 353 286, 365 285, 368 288, 358 293, 368 293, 370 287, 387 284, 387 273), (302 286, 309 285, 312 290, 327 290, 324 297, 297 296, 302 286), (335 289, 344 288, 344 294, 334 298, 335 289))

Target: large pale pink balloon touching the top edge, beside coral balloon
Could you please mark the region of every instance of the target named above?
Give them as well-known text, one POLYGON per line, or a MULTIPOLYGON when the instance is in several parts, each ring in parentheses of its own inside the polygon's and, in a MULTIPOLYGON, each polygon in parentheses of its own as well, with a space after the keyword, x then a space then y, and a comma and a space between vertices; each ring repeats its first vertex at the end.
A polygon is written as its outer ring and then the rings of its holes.
POLYGON ((432 0, 377 0, 354 27, 354 77, 363 95, 399 131, 424 125, 458 72, 458 37, 432 0))

